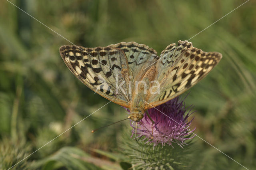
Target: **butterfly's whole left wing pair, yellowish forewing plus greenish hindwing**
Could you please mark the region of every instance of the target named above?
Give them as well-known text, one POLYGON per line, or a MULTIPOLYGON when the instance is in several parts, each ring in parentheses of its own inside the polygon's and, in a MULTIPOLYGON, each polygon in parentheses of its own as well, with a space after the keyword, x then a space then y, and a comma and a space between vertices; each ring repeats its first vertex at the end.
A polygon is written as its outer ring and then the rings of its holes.
POLYGON ((159 59, 156 51, 144 44, 121 42, 107 47, 60 47, 62 59, 72 73, 90 89, 129 107, 134 79, 141 77, 159 59), (124 83, 122 83, 124 82, 124 83), (122 86, 119 86, 123 84, 122 86))

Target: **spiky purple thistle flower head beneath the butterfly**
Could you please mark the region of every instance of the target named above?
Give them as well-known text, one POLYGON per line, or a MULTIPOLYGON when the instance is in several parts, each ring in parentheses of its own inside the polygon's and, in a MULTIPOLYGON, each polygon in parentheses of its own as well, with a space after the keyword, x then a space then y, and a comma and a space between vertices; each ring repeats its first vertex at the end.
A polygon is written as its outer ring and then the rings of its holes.
MULTIPOLYGON (((190 133, 195 130, 195 128, 190 130, 190 124, 194 118, 188 121, 188 117, 192 114, 190 113, 191 109, 185 115, 184 100, 179 100, 178 97, 155 108, 148 109, 148 114, 155 124, 152 127, 152 121, 145 113, 144 118, 138 122, 138 137, 146 136, 143 140, 148 139, 146 143, 154 143, 154 147, 159 143, 162 146, 165 144, 172 146, 174 142, 181 147, 184 146, 187 139, 195 136, 190 137, 190 133)), ((132 134, 135 134, 134 124, 131 124, 131 126, 133 127, 132 134)))

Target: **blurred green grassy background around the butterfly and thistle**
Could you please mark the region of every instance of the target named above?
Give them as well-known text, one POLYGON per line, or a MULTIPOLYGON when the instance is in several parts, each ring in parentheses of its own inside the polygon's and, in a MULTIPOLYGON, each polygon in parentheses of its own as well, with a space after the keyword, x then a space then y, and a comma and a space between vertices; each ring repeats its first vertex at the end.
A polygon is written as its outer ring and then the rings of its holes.
MULTIPOLYGON (((188 40, 245 1, 11 2, 76 45, 97 47, 135 41, 159 54, 170 43, 188 40)), ((187 106, 195 105, 194 132, 249 169, 256 167, 255 9, 256 2, 250 0, 190 40, 194 47, 218 51, 223 58, 186 98, 187 106)), ((46 26, 8 1, 1 1, 2 169, 108 103, 69 71, 59 47, 70 43, 46 26)), ((126 117, 123 108, 110 103, 14 169, 31 165, 38 169, 122 169, 122 156, 116 155, 120 154, 122 135, 131 134, 129 121, 95 134, 90 131, 126 117)), ((195 137, 193 142, 196 156, 191 162, 197 162, 196 169, 244 169, 200 138, 195 137)))

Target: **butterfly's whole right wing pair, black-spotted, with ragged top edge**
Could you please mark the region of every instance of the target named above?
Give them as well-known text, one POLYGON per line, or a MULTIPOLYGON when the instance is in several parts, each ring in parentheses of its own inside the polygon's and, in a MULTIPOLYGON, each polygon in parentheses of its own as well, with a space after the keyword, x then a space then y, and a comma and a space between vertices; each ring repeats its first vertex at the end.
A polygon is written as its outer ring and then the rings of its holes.
POLYGON ((204 52, 187 41, 169 45, 156 63, 160 93, 150 96, 148 107, 155 107, 184 93, 203 79, 222 58, 218 52, 204 52))

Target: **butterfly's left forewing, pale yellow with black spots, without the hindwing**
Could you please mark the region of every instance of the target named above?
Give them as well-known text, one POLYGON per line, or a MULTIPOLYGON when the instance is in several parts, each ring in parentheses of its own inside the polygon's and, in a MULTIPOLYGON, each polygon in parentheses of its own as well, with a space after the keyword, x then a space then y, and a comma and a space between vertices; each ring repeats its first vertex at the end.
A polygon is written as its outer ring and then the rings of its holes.
POLYGON ((60 55, 70 71, 87 87, 114 103, 129 107, 128 63, 122 50, 110 46, 85 48, 63 45, 60 55), (118 81, 125 82, 123 88, 116 86, 118 81))

